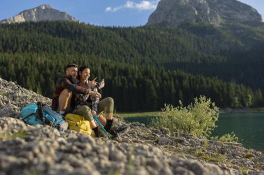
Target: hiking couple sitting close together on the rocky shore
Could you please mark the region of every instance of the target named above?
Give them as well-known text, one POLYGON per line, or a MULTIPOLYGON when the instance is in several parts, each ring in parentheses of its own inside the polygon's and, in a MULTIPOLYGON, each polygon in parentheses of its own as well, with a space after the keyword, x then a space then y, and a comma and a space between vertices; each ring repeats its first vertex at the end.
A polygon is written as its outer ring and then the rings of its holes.
POLYGON ((65 76, 60 77, 56 82, 56 89, 53 93, 51 108, 61 115, 75 113, 90 121, 95 136, 103 136, 101 129, 97 127, 92 115, 97 115, 104 129, 112 136, 124 133, 127 126, 114 129, 113 127, 113 98, 104 98, 99 101, 101 94, 97 89, 104 87, 104 81, 97 83, 96 78, 89 81, 90 68, 82 66, 78 70, 76 64, 69 64, 65 68, 65 76), (101 115, 104 112, 106 118, 101 115))

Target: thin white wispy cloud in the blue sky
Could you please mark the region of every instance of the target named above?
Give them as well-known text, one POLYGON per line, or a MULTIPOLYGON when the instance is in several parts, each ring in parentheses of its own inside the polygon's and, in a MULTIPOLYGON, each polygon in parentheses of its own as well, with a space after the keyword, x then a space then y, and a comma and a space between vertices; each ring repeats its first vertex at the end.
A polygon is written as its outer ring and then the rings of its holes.
POLYGON ((116 12, 118 10, 121 10, 122 8, 131 8, 135 10, 155 10, 158 1, 140 1, 140 3, 134 3, 133 1, 126 1, 126 3, 123 6, 117 6, 117 7, 107 7, 106 12, 116 12))

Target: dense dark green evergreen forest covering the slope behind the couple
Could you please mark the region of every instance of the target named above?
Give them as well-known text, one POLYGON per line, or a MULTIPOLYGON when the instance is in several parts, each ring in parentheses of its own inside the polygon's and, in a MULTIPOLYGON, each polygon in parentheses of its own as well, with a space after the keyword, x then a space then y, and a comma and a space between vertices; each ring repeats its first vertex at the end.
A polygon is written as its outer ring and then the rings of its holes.
POLYGON ((0 75, 51 98, 67 64, 90 66, 91 79, 106 80, 101 93, 115 99, 118 111, 154 111, 179 100, 190 104, 199 95, 218 107, 261 107, 261 46, 264 30, 245 24, 0 24, 0 75))

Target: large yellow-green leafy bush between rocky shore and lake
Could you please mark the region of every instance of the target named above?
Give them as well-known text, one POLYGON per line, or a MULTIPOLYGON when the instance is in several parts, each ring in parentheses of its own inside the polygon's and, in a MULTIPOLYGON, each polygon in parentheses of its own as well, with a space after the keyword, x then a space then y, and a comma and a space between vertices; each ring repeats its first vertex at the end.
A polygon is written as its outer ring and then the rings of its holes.
POLYGON ((216 127, 219 109, 205 96, 195 98, 195 103, 188 107, 179 107, 165 104, 161 117, 151 121, 151 127, 170 129, 171 132, 190 133, 196 136, 210 136, 211 131, 216 127))

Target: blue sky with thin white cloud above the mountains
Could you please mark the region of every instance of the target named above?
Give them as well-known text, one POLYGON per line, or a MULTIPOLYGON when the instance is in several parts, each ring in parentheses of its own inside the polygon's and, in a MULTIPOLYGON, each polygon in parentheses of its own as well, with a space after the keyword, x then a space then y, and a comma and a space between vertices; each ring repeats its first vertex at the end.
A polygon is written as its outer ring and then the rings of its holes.
MULTIPOLYGON (((264 17, 263 0, 240 0, 256 8, 264 17)), ((23 10, 49 4, 67 12, 86 24, 99 26, 142 26, 158 4, 158 0, 1 0, 0 20, 23 10)))

